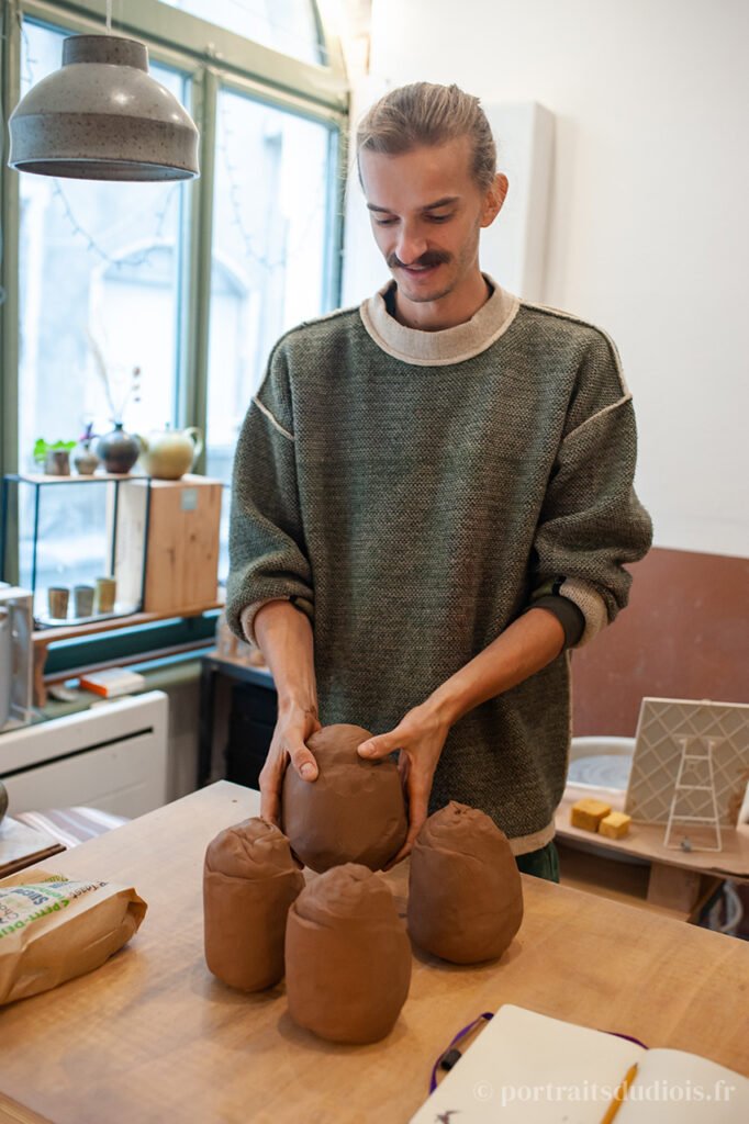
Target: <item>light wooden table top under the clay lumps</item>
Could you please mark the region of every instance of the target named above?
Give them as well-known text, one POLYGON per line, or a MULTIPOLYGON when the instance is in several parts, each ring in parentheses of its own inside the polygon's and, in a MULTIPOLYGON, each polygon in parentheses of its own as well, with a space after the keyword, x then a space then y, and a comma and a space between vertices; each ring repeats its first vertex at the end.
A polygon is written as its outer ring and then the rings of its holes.
MULTIPOLYGON (((385 1042, 315 1039, 289 1018, 282 985, 232 991, 202 958, 202 853, 258 805, 222 781, 55 860, 74 877, 135 885, 150 909, 97 972, 0 1010, 0 1121, 399 1124, 452 1035, 502 1003, 749 1073, 749 946, 525 876, 525 918, 499 963, 417 954, 385 1042)), ((406 865, 387 876, 401 912, 406 865)))

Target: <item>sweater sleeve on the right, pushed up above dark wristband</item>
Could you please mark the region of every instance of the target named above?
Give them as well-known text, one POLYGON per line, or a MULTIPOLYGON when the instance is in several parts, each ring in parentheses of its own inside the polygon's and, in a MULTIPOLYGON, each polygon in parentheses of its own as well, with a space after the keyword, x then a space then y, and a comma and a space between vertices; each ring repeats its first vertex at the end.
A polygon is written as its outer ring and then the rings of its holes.
POLYGON ((613 343, 596 332, 578 371, 532 556, 531 606, 541 598, 547 608, 550 598, 576 605, 585 627, 575 645, 593 640, 626 606, 632 578, 624 563, 650 547, 650 517, 633 488, 635 460, 632 396, 613 343))

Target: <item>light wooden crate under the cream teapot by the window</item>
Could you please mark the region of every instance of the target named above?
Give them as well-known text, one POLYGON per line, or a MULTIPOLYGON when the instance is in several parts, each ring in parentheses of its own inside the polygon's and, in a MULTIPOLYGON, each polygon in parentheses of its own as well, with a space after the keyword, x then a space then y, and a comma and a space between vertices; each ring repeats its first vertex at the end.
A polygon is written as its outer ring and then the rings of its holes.
MULTIPOLYGON (((207 477, 151 481, 144 613, 181 613, 216 600, 223 486, 207 477)), ((143 506, 120 497, 117 588, 139 582, 143 506)))

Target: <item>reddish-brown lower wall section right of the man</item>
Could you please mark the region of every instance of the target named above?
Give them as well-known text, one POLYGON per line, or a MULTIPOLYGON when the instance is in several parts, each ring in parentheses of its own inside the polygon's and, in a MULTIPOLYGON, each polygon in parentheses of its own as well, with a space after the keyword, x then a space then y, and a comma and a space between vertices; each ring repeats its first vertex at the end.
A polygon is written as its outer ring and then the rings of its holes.
POLYGON ((572 654, 575 734, 633 736, 640 701, 749 703, 749 559, 655 549, 629 607, 572 654))

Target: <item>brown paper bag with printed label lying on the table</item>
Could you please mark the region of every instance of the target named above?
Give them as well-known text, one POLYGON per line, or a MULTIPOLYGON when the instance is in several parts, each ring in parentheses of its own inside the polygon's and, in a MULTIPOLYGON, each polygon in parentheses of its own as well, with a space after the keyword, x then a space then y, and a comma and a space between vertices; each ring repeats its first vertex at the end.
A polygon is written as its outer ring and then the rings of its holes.
POLYGON ((46 870, 0 883, 0 1005, 93 971, 137 932, 146 903, 132 887, 46 870))

